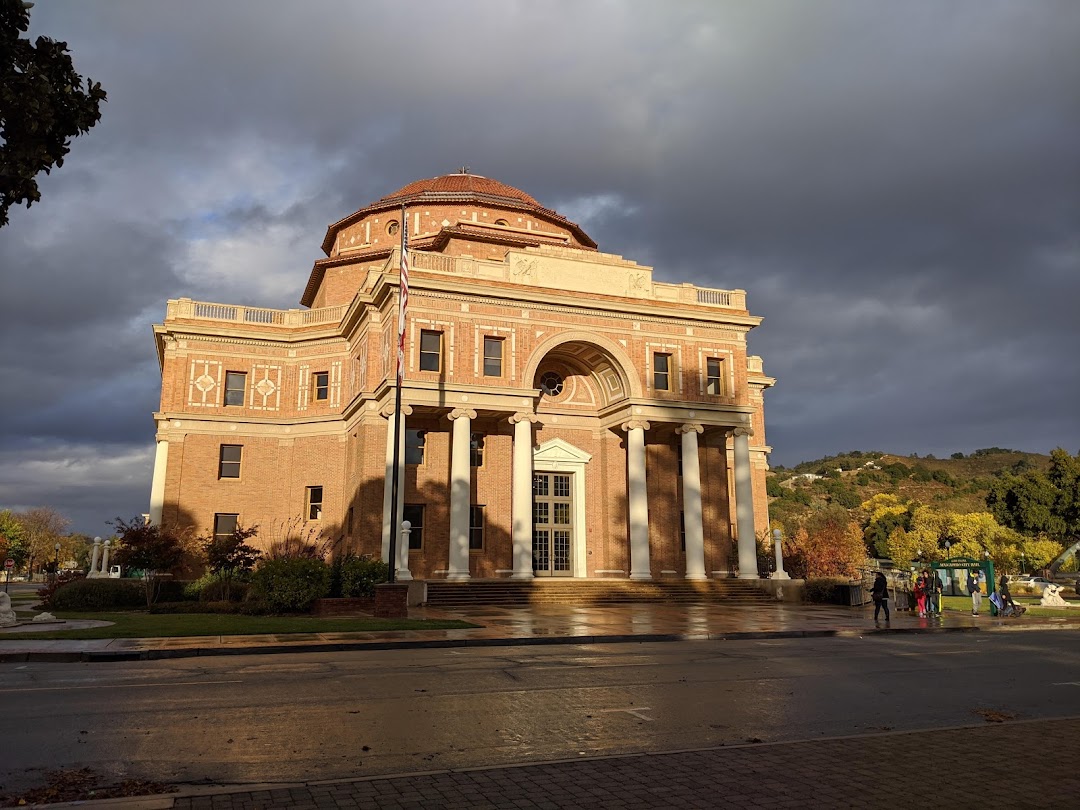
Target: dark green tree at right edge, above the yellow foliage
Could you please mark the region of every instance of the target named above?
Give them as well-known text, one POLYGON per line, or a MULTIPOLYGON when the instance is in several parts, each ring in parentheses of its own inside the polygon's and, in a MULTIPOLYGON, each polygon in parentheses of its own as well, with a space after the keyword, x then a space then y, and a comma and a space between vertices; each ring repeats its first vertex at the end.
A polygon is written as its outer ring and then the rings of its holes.
POLYGON ((1023 535, 1075 540, 1080 537, 1080 455, 1058 447, 1045 473, 1001 476, 990 486, 986 505, 999 523, 1023 535))

